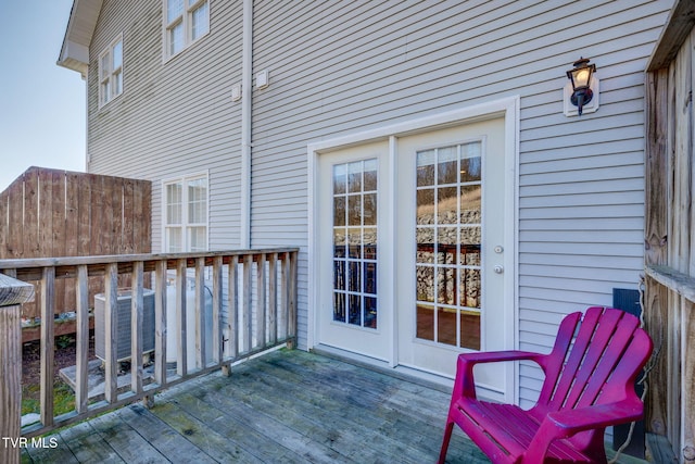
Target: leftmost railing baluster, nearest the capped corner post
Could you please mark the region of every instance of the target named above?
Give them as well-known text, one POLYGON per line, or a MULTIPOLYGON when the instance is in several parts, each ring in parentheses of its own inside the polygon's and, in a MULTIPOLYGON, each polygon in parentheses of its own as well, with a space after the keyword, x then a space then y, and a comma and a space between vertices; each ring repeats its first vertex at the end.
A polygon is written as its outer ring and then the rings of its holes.
POLYGON ((43 267, 41 277, 41 423, 53 425, 53 353, 55 267, 43 267))

